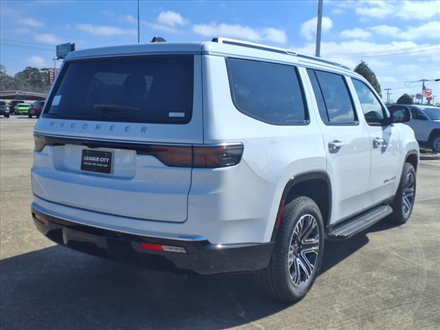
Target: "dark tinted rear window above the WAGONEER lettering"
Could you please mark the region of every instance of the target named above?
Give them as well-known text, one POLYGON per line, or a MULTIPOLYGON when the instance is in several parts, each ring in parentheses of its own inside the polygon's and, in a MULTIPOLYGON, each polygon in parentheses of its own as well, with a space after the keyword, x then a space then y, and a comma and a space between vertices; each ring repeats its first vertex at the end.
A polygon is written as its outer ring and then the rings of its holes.
POLYGON ((186 124, 192 115, 192 55, 67 63, 43 117, 186 124))

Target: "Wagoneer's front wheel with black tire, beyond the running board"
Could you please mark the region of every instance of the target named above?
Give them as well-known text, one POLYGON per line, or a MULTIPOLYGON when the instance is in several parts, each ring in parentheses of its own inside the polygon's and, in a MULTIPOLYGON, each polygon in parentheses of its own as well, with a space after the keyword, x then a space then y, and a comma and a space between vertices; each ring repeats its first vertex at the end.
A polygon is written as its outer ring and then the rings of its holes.
POLYGON ((399 187, 392 204, 393 213, 390 216, 390 220, 393 223, 403 225, 410 219, 412 208, 414 208, 416 188, 417 177, 415 169, 412 164, 405 163, 404 169, 401 171, 399 187), (412 183, 411 180, 413 180, 412 183))

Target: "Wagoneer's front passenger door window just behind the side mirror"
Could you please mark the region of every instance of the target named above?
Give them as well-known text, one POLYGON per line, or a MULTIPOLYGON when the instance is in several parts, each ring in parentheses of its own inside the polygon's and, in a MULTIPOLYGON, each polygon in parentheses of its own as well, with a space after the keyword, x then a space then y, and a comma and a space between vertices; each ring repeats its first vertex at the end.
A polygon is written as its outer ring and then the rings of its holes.
POLYGON ((373 94, 373 91, 360 80, 351 79, 351 81, 353 81, 358 94, 366 122, 373 125, 382 124, 382 120, 385 118, 384 108, 373 94))

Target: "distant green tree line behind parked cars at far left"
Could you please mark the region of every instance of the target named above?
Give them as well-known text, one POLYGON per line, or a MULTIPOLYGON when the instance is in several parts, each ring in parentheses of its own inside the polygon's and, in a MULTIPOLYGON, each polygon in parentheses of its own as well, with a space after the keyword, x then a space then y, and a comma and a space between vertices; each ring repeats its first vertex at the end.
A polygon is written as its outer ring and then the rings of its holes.
POLYGON ((25 67, 21 72, 10 76, 6 68, 0 65, 0 90, 19 90, 46 93, 49 90, 47 84, 47 69, 25 67))

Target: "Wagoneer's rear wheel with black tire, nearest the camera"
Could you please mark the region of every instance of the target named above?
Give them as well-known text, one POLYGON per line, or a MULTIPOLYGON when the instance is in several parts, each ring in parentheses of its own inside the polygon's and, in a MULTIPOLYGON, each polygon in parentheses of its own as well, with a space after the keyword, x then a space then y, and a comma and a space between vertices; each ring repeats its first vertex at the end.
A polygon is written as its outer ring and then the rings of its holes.
MULTIPOLYGON (((272 298, 283 300, 287 303, 301 300, 314 284, 315 278, 320 269, 323 252, 324 223, 322 222, 321 212, 313 199, 310 199, 309 197, 297 197, 285 207, 280 227, 276 232, 274 250, 269 265, 264 270, 254 274, 257 287, 259 287, 259 289, 265 294, 272 296, 272 298), (314 238, 316 238, 316 233, 318 234, 318 239, 316 240, 318 243, 314 244, 318 247, 318 251, 316 256, 313 256, 314 252, 306 252, 309 253, 309 255, 312 254, 311 259, 307 257, 307 260, 309 261, 309 265, 314 261, 314 266, 312 268, 309 267, 309 270, 313 270, 309 272, 310 275, 304 282, 302 281, 303 274, 301 274, 301 271, 298 272, 300 283, 298 285, 298 283, 294 284, 294 281, 298 282, 298 276, 294 275, 291 277, 291 272, 293 271, 294 274, 296 274, 295 267, 298 267, 298 270, 301 268, 298 263, 304 264, 301 261, 305 261, 304 256, 301 256, 304 251, 303 247, 306 246, 309 248, 311 245, 307 244, 311 243, 306 244, 303 243, 303 241, 310 236, 306 235, 301 243, 296 245, 299 247, 298 249, 291 250, 291 243, 295 241, 295 232, 298 225, 300 225, 300 221, 303 221, 304 223, 304 232, 308 231, 306 221, 307 219, 311 219, 307 218, 309 215, 316 220, 316 225, 314 225, 314 228, 312 228, 313 231, 310 232, 310 234, 314 235, 314 238), (296 250, 296 252, 294 252, 294 250, 296 250), (293 263, 289 266, 289 252, 291 251, 291 255, 294 259, 293 263), (295 253, 298 254, 298 256, 295 256, 295 253), (297 263, 298 259, 300 261, 297 263)), ((290 260, 292 260, 292 258, 290 260)), ((304 270, 304 268, 302 268, 302 270, 304 270)), ((306 274, 304 271, 303 273, 304 275, 306 274)))

